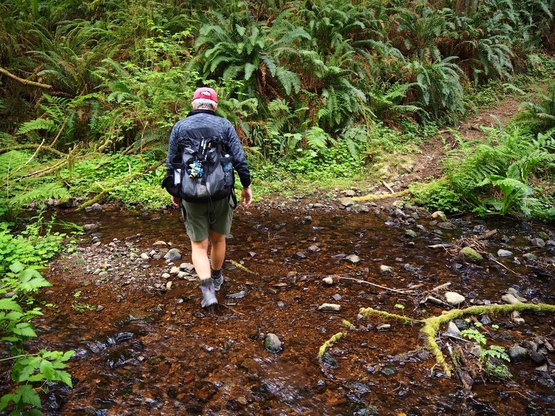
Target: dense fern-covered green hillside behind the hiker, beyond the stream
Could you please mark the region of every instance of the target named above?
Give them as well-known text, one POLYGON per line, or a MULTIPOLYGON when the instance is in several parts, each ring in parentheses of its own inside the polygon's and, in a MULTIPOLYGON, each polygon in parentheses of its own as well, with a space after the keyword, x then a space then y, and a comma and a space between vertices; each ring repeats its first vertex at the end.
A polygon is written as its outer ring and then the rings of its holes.
MULTIPOLYGON (((554 49, 553 0, 457 6, 0 0, 0 214, 92 193, 166 205, 156 161, 200 85, 219 92, 218 112, 236 126, 257 180, 376 172, 427 126, 472 110, 495 80, 553 69, 542 55, 554 49)), ((552 127, 552 95, 522 106, 531 134, 552 127)), ((477 188, 498 187, 489 179, 477 188)), ((444 183, 438 205, 472 200, 472 189, 444 183)), ((484 202, 481 212, 527 207, 484 202)))

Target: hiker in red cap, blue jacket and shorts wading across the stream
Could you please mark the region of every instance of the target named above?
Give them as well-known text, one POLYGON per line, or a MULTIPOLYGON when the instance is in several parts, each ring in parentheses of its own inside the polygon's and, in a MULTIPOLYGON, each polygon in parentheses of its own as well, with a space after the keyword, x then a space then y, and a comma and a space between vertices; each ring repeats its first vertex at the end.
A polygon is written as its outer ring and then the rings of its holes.
MULTIPOLYGON (((182 209, 187 235, 191 239, 191 258, 196 273, 200 278, 200 290, 203 293, 203 300, 200 302, 200 306, 212 308, 218 304, 216 291, 219 291, 223 283, 221 268, 225 258, 225 236, 230 233, 233 209, 237 205, 237 198, 235 198, 233 191, 233 168, 239 174, 239 180, 241 180, 241 185, 243 185, 241 203, 245 209, 248 209, 253 200, 253 192, 250 189, 250 171, 246 162, 245 152, 239 137, 237 137, 237 132, 235 132, 230 121, 216 116, 214 113, 218 106, 218 96, 214 89, 207 87, 198 88, 194 92, 191 105, 193 110, 187 114, 185 119, 178 121, 171 130, 167 156, 168 174, 173 175, 175 166, 172 162, 176 160, 174 159, 176 156, 180 160, 184 152, 182 148, 184 144, 187 146, 187 144, 191 143, 191 137, 201 140, 200 145, 198 145, 199 152, 204 151, 207 153, 207 151, 221 146, 224 153, 223 157, 231 157, 232 159, 232 162, 228 164, 227 172, 228 180, 231 182, 230 186, 228 186, 230 189, 229 195, 225 195, 223 198, 220 195, 199 198, 197 195, 188 195, 188 192, 185 190, 186 187, 183 185, 183 187, 180 187, 179 196, 172 195, 171 198, 173 205, 182 209), (209 140, 208 145, 205 139, 209 140), (212 244, 210 259, 207 253, 209 241, 212 244)), ((197 146, 196 143, 194 146, 197 146)), ((193 153, 196 153, 196 151, 193 153)), ((205 153, 203 155, 206 160, 207 156, 205 153)), ((215 155, 214 157, 217 161, 222 156, 215 155)), ((198 157, 196 155, 195 160, 197 159, 202 159, 202 156, 198 157)), ((207 167, 206 165, 203 168, 202 160, 198 164, 195 163, 193 162, 187 166, 182 165, 186 171, 183 172, 184 169, 181 169, 181 181, 193 181, 196 179, 196 176, 202 176, 203 174, 206 174, 206 181, 211 180, 210 172, 215 171, 216 168, 207 167), (203 172, 203 170, 206 172, 203 172)), ((216 163, 221 165, 225 162, 216 163)), ((225 165, 223 170, 225 175, 225 165)), ((183 183, 185 182, 180 182, 180 185, 183 183)), ((210 188, 208 184, 205 185, 203 187, 204 191, 210 188)))

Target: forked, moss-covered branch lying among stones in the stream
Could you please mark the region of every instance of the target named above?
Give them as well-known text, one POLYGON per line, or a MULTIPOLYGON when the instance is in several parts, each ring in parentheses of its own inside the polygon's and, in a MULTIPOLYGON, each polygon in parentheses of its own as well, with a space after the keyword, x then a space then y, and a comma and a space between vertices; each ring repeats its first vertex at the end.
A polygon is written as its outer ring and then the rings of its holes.
POLYGON ((425 337, 426 348, 434 355, 434 358, 436 358, 436 362, 441 365, 441 367, 443 367, 443 372, 445 372, 445 374, 450 377, 451 367, 447 363, 447 361, 445 361, 443 352, 441 352, 441 349, 436 343, 436 334, 439 330, 440 325, 445 324, 450 320, 460 318, 464 315, 481 315, 483 313, 487 313, 488 315, 495 315, 497 313, 510 313, 513 311, 555 313, 555 305, 518 303, 512 305, 470 306, 466 309, 452 309, 452 311, 445 311, 441 315, 432 316, 430 318, 426 318, 425 320, 413 320, 411 318, 407 318, 406 316, 396 315, 395 313, 388 313, 384 311, 377 311, 372 308, 361 308, 359 313, 365 318, 368 317, 368 315, 378 315, 382 318, 395 318, 401 320, 404 323, 416 322, 423 324, 424 326, 422 327, 422 329, 420 329, 420 333, 422 333, 422 335, 425 337))

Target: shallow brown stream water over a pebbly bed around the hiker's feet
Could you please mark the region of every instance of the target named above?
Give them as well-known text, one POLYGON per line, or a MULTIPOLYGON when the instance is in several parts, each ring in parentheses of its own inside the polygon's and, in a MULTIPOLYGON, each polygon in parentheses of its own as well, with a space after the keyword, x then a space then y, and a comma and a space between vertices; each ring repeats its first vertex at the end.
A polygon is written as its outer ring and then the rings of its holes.
MULTIPOLYGON (((529 248, 531 229, 466 220, 452 220, 454 229, 418 220, 422 227, 416 228, 395 220, 384 225, 374 214, 299 212, 236 212, 228 259, 246 270, 226 263, 218 296, 222 306, 214 314, 200 309, 196 281, 162 277, 171 267, 155 259, 160 250, 153 244, 162 240, 190 261, 176 212, 60 213, 64 220, 98 223, 101 234, 54 264, 49 273, 54 286, 42 295, 55 306, 36 323, 41 345, 76 349, 70 365, 74 389, 55 386, 46 414, 486 415, 544 414, 554 408, 553 386, 541 383, 529 363, 511 366, 515 377, 509 387, 476 383, 470 395, 464 393, 455 377, 447 379, 418 348, 419 327, 390 320, 391 330, 382 332, 376 327, 386 321, 357 319, 359 309, 368 306, 395 313, 395 305, 402 305, 403 313, 415 318, 443 309, 418 305, 414 295, 337 277, 398 289, 421 285, 422 292, 450 281, 450 290, 468 304, 499 302, 509 287, 554 303, 554 281, 536 277, 522 261, 523 252, 555 255, 553 248, 529 248), (418 236, 405 236, 407 227, 418 236), (475 266, 447 250, 428 248, 493 228, 499 232, 486 249, 497 254, 498 248, 511 247, 522 264, 496 257, 475 266), (151 252, 151 260, 137 260, 142 252, 151 252), (350 254, 357 254, 359 263, 348 261, 350 254), (382 265, 393 272, 380 272, 382 265), (331 286, 322 281, 328 275, 336 275, 331 286), (228 297, 241 291, 244 297, 228 297), (76 301, 102 310, 78 313, 76 301), (325 302, 341 304, 341 311, 318 311, 325 302), (346 329, 343 320, 357 329, 346 329), (340 331, 348 334, 327 350, 321 367, 319 347, 340 331), (266 333, 282 340, 282 352, 266 351, 266 333)), ((499 333, 517 339, 551 331, 551 318, 525 318, 520 327, 499 318, 499 333)), ((511 345, 499 337, 496 342, 511 345)))

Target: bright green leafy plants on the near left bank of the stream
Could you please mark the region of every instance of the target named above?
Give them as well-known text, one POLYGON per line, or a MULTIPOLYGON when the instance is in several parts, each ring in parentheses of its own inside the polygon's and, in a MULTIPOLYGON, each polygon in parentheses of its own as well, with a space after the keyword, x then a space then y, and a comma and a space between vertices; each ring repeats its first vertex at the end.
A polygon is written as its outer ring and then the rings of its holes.
MULTIPOLYGON (((39 392, 46 381, 60 381, 71 387, 71 376, 64 369, 74 351, 40 349, 31 354, 26 341, 37 337, 31 320, 42 315, 33 294, 51 284, 40 275, 46 261, 60 251, 65 234, 52 232, 53 219, 44 222, 42 213, 13 235, 0 226, 0 348, 1 364, 10 364, 12 392, 0 397, 0 411, 10 415, 40 415, 39 392)), ((7 387, 7 386, 6 386, 7 387)))

